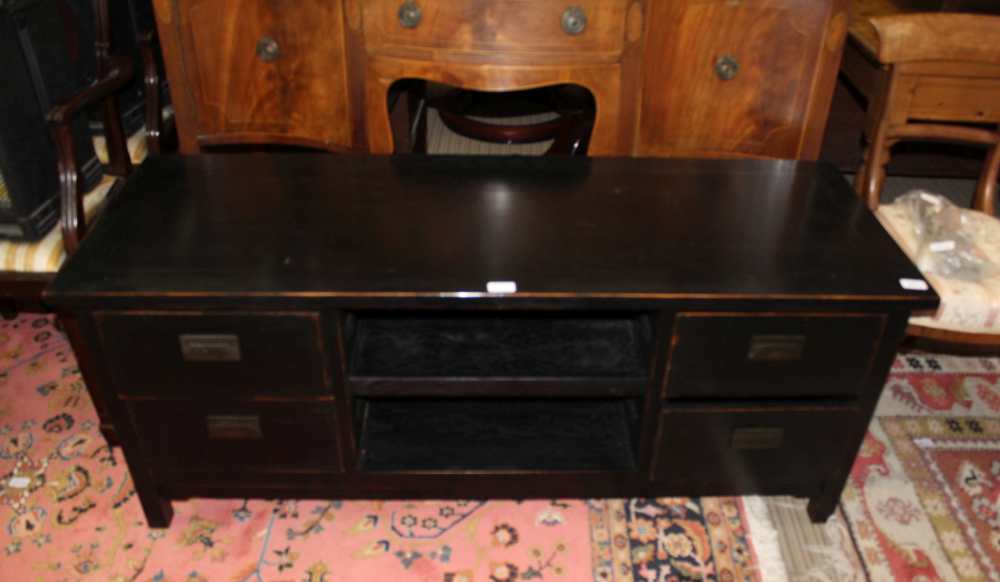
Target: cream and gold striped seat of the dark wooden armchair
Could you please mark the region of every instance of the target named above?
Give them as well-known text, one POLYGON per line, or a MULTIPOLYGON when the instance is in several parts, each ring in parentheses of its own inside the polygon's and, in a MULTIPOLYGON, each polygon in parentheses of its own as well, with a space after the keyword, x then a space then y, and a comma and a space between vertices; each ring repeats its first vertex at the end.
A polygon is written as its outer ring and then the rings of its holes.
MULTIPOLYGON (((94 149, 102 163, 107 163, 107 150, 103 138, 94 139, 94 149)), ((128 140, 129 157, 132 163, 140 164, 146 159, 146 133, 138 131, 128 140)), ((103 207, 108 192, 118 179, 105 175, 100 183, 83 198, 83 210, 87 224, 97 216, 103 207)), ((62 229, 57 224, 44 237, 36 241, 0 240, 0 271, 17 273, 55 273, 66 260, 63 248, 62 229)))

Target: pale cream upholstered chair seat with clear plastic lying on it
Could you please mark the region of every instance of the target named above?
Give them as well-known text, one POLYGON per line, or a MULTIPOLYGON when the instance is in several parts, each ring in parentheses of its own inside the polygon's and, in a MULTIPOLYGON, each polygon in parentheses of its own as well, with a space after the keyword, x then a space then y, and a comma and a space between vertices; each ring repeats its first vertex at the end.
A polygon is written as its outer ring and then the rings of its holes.
MULTIPOLYGON (((976 245, 1000 265, 1000 220, 975 210, 963 210, 975 229, 976 245)), ((910 214, 895 204, 878 207, 875 216, 900 248, 916 262, 919 247, 910 214)), ((911 325, 974 334, 1000 334, 1000 276, 979 282, 961 281, 923 273, 941 297, 933 315, 913 316, 911 325)))

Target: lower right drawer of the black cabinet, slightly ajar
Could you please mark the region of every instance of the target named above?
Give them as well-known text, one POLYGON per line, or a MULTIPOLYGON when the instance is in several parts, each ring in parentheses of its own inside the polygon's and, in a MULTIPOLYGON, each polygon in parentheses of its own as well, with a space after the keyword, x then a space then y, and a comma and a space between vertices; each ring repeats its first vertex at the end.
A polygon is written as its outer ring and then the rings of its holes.
POLYGON ((848 408, 666 410, 651 477, 689 495, 815 493, 856 420, 848 408))

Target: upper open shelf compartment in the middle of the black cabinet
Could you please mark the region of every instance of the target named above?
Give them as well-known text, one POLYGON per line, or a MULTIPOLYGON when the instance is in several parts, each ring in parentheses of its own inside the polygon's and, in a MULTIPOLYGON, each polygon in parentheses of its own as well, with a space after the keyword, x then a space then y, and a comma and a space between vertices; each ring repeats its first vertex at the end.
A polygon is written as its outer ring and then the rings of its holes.
POLYGON ((589 382, 641 394, 653 341, 651 317, 632 312, 368 311, 352 313, 347 329, 348 376, 362 395, 456 382, 475 392, 477 379, 543 391, 589 382))

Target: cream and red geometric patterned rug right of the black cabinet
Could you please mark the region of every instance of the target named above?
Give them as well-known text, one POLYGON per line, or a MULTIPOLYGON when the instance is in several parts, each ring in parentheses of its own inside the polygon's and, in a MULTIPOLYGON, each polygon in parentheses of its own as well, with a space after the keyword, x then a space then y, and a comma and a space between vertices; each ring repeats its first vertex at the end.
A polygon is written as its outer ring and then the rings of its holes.
POLYGON ((1000 580, 1000 361, 897 358, 842 504, 871 580, 1000 580))

